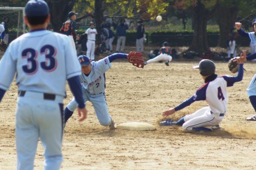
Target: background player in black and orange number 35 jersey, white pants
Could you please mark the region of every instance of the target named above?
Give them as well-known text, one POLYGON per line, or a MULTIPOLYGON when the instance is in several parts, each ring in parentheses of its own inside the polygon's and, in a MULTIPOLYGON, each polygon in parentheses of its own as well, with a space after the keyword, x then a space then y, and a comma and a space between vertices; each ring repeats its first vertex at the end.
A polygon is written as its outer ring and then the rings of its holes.
POLYGON ((76 50, 76 45, 73 36, 76 37, 76 40, 79 40, 79 36, 76 34, 75 29, 76 29, 76 15, 77 13, 71 11, 69 12, 69 19, 62 24, 62 27, 60 29, 61 34, 65 34, 69 36, 71 43, 76 50))

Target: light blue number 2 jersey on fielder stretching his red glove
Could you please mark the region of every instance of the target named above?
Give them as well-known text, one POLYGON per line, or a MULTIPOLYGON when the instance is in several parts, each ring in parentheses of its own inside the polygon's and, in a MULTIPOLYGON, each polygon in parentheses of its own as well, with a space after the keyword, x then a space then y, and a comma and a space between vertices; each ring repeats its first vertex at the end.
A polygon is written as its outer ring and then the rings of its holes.
POLYGON ((101 94, 105 91, 105 71, 111 68, 109 57, 91 62, 91 72, 88 76, 81 75, 82 87, 90 94, 101 94))

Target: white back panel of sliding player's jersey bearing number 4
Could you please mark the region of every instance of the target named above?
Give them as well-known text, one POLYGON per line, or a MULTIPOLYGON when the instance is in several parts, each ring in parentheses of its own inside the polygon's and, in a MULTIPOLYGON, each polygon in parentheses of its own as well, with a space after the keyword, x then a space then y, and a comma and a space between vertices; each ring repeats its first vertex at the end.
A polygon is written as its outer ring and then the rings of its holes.
POLYGON ((222 77, 217 77, 209 82, 206 89, 206 101, 212 112, 225 113, 228 102, 227 82, 222 77))

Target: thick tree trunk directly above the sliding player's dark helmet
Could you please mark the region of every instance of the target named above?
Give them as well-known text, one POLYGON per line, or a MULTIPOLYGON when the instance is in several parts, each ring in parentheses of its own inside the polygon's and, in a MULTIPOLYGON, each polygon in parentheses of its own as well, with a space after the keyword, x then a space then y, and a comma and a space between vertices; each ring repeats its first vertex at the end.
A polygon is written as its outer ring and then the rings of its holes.
POLYGON ((210 12, 211 11, 205 9, 205 6, 201 4, 200 1, 198 1, 197 6, 193 8, 195 29, 193 34, 193 41, 187 51, 195 51, 198 53, 210 52, 206 34, 206 26, 207 21, 210 18, 210 12))

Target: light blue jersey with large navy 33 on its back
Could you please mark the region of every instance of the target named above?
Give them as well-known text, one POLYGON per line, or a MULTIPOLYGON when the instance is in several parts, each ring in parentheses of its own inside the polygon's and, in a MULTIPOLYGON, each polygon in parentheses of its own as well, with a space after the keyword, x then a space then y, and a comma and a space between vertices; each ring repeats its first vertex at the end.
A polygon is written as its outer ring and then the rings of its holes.
POLYGON ((0 61, 0 88, 8 90, 17 72, 19 90, 65 96, 66 80, 81 75, 81 66, 71 46, 68 36, 47 30, 18 37, 0 61))

